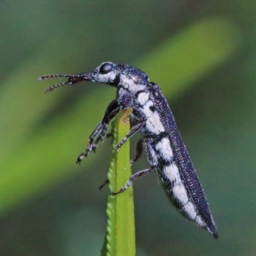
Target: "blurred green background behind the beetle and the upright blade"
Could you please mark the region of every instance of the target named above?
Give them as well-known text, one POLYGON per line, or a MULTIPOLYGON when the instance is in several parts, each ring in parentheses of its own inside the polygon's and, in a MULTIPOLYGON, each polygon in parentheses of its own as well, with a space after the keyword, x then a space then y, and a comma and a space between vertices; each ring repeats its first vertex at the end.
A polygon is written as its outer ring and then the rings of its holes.
POLYGON ((115 91, 44 95, 60 80, 36 79, 103 61, 160 84, 220 236, 184 219, 153 173, 134 183, 137 255, 256 254, 254 1, 1 1, 0 14, 0 255, 99 255, 110 142, 75 160, 115 91))

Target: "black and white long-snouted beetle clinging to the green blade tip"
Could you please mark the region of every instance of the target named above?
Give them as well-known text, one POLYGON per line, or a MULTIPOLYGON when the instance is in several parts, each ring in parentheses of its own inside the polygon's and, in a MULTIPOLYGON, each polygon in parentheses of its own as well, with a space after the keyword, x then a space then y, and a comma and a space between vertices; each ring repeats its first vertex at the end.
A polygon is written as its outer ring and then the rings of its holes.
MULTIPOLYGON (((158 84, 149 82, 148 75, 136 67, 112 62, 103 62, 90 73, 54 74, 39 79, 52 78, 68 78, 68 80, 50 86, 46 92, 62 85, 72 85, 82 81, 108 84, 117 88, 116 98, 110 102, 102 121, 91 133, 89 144, 79 155, 78 162, 90 151, 96 150, 97 144, 105 137, 110 121, 119 111, 132 108, 131 115, 136 120, 136 125, 133 125, 131 131, 118 143, 117 149, 119 150, 129 137, 139 133, 143 139, 137 143, 135 160, 142 154, 144 143, 150 168, 133 174, 125 186, 113 195, 124 192, 133 180, 155 170, 174 206, 186 218, 194 220, 201 228, 207 229, 212 236, 218 238, 201 183, 177 130, 172 111, 158 84)), ((131 163, 135 160, 131 160, 131 163)))

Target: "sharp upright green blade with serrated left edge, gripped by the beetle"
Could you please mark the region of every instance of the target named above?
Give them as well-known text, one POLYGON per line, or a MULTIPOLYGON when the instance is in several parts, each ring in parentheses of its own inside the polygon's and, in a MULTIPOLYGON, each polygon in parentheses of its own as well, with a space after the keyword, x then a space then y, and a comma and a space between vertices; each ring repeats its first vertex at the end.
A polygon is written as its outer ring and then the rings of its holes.
MULTIPOLYGON (((118 191, 131 176, 130 143, 129 140, 116 152, 115 145, 130 131, 127 116, 130 110, 119 113, 113 121, 113 153, 108 172, 109 189, 118 191)), ((124 193, 108 196, 108 256, 135 255, 135 226, 133 189, 129 187, 124 193)))

